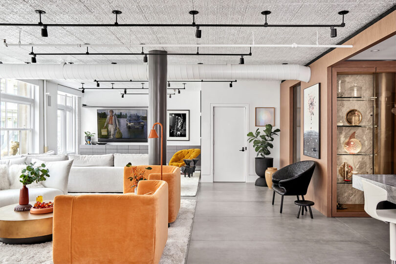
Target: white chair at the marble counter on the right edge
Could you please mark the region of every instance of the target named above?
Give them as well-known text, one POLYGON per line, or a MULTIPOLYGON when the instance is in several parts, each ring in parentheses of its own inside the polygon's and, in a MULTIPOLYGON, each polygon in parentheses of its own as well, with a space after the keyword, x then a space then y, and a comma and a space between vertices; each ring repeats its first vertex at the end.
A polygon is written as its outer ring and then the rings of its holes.
POLYGON ((377 204, 381 201, 386 201, 388 192, 370 183, 363 181, 364 190, 364 211, 372 218, 389 222, 389 240, 391 247, 391 261, 396 264, 396 209, 377 210, 377 204))

